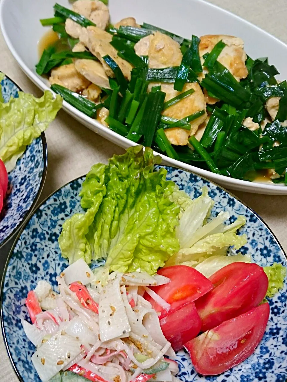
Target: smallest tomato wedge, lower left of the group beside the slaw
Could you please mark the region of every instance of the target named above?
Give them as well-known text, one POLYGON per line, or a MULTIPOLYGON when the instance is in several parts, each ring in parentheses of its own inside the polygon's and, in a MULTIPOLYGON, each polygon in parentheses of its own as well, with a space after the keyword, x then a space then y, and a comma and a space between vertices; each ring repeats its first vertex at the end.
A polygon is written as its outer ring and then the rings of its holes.
POLYGON ((197 336, 201 328, 201 319, 195 304, 190 303, 163 317, 160 320, 160 326, 173 350, 178 351, 186 342, 197 336))

